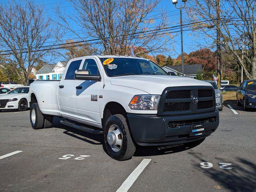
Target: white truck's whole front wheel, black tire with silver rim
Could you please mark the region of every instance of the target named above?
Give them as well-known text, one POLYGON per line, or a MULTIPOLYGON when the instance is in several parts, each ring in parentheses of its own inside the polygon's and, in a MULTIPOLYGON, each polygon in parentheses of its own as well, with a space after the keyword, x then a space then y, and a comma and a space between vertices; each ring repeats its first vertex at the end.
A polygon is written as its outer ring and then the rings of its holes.
POLYGON ((123 115, 116 114, 108 118, 104 127, 104 143, 110 157, 118 161, 132 158, 136 147, 123 115))

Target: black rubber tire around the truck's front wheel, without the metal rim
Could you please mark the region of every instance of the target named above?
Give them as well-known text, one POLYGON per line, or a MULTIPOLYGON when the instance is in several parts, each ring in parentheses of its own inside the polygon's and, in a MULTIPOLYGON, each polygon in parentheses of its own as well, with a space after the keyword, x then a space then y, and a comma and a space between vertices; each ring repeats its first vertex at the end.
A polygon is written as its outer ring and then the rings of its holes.
POLYGON ((126 118, 121 114, 112 115, 108 118, 105 127, 104 127, 104 143, 108 155, 115 160, 124 161, 132 158, 136 147, 132 141, 130 130, 126 123, 126 118), (122 131, 122 146, 118 152, 112 150, 110 144, 107 141, 108 130, 112 125, 118 126, 120 131, 122 131))

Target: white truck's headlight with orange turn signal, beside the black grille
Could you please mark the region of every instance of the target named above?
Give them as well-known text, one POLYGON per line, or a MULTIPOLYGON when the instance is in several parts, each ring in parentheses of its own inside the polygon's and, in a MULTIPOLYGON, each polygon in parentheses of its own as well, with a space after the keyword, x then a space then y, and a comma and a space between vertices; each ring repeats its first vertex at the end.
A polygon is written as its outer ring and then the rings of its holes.
POLYGON ((129 107, 134 110, 157 110, 160 95, 136 95, 132 98, 129 107))

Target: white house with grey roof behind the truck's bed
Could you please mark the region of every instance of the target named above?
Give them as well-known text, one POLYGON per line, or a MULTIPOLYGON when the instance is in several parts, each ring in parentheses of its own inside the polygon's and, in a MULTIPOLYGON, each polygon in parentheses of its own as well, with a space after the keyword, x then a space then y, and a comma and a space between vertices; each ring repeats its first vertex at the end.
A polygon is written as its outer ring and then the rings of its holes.
POLYGON ((46 64, 36 72, 36 79, 60 80, 67 64, 67 61, 59 61, 57 64, 46 64))

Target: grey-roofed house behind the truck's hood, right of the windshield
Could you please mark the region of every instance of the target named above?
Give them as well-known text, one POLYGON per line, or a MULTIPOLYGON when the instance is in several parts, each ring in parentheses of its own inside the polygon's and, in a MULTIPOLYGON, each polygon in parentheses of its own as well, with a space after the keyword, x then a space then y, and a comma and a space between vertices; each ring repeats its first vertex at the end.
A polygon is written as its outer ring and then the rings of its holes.
MULTIPOLYGON (((182 75, 182 65, 168 65, 164 66, 163 70, 166 72, 174 72, 176 75, 182 75)), ((198 70, 203 74, 201 64, 184 65, 184 76, 190 78, 196 78, 198 70)))

